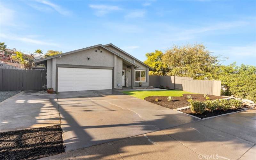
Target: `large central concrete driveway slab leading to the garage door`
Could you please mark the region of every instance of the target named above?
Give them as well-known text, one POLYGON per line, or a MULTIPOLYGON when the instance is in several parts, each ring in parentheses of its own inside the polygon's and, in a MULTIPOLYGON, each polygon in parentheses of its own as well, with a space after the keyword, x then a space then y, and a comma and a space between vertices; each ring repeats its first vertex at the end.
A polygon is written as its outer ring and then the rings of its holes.
POLYGON ((59 92, 57 96, 66 151, 197 120, 114 90, 59 92))

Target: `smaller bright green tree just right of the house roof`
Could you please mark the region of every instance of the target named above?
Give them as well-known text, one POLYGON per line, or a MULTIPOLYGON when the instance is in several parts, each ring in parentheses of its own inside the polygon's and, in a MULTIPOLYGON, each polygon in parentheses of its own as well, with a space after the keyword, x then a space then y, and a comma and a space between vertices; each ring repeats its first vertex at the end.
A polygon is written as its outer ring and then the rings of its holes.
POLYGON ((155 52, 147 53, 146 57, 147 60, 144 63, 155 69, 155 71, 149 71, 149 75, 164 76, 167 74, 167 68, 162 61, 163 52, 156 50, 155 52))

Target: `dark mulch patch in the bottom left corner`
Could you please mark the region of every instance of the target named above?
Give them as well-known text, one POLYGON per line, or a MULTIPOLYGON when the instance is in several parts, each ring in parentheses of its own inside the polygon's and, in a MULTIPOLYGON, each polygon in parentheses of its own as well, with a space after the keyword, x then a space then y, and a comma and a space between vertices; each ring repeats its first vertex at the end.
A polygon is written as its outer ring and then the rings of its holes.
POLYGON ((0 133, 0 159, 38 159, 64 151, 60 125, 0 133))

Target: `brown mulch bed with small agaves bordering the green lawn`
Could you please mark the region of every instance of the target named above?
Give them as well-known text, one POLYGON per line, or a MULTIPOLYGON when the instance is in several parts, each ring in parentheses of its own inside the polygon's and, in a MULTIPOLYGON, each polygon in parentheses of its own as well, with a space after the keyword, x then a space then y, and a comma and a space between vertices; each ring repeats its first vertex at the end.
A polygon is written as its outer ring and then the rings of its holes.
MULTIPOLYGON (((175 108, 189 106, 187 95, 191 95, 193 100, 199 100, 199 101, 205 100, 205 97, 203 97, 203 94, 183 94, 183 97, 173 97, 173 100, 171 102, 167 100, 168 96, 149 96, 149 97, 146 97, 145 100, 166 108, 175 109, 175 108), (159 100, 158 102, 156 102, 156 98, 158 98, 159 100)), ((208 95, 208 97, 210 97, 210 100, 224 98, 221 96, 213 96, 213 95, 208 95)))

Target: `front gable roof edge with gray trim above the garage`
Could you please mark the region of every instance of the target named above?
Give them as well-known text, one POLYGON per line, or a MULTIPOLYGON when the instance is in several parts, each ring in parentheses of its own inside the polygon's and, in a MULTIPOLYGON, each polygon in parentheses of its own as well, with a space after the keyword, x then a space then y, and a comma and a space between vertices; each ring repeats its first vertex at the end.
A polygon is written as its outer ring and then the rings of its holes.
POLYGON ((97 44, 97 45, 93 45, 93 46, 90 46, 90 47, 78 49, 78 50, 75 50, 75 51, 65 52, 65 53, 57 54, 57 55, 54 55, 54 56, 51 56, 51 57, 46 57, 46 58, 42 58, 42 59, 39 59, 39 60, 34 60, 34 62, 36 64, 41 64, 43 61, 46 61, 46 60, 49 60, 49 59, 52 59, 52 58, 57 58, 57 57, 60 57, 60 56, 64 56, 64 55, 68 55, 68 54, 71 54, 71 53, 76 53, 76 52, 88 50, 88 49, 95 48, 95 47, 102 47, 102 48, 106 49, 107 51, 112 52, 116 56, 122 58, 126 63, 134 65, 135 68, 140 68, 140 66, 138 64, 132 62, 131 60, 128 60, 124 56, 120 55, 119 53, 116 53, 115 51, 112 51, 111 49, 107 48, 106 46, 104 46, 102 44, 97 44))

